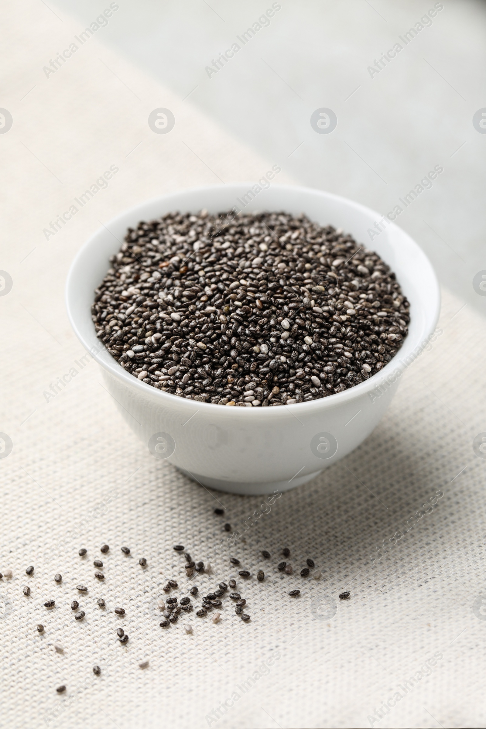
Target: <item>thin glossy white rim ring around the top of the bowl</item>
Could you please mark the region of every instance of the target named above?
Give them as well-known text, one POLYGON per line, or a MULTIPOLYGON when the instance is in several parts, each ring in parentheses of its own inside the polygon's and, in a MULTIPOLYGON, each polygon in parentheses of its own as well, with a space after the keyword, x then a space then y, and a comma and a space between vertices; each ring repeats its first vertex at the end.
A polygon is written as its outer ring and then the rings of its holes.
MULTIPOLYGON (((128 217, 135 217, 139 215, 138 211, 141 211, 141 208, 146 208, 147 206, 151 206, 157 203, 166 203, 171 198, 179 198, 181 195, 193 195, 193 194, 203 194, 204 192, 207 192, 208 190, 230 190, 232 188, 234 189, 240 189, 241 187, 245 187, 248 189, 248 187, 251 187, 254 184, 254 182, 230 182, 226 184, 208 184, 208 185, 201 185, 199 187, 188 187, 183 188, 181 190, 176 190, 175 192, 169 192, 165 193, 164 195, 157 195, 154 198, 149 198, 147 200, 143 200, 141 203, 137 203, 136 205, 125 209, 121 213, 117 214, 116 216, 112 217, 106 224, 103 224, 101 227, 98 228, 98 230, 95 230, 95 232, 90 235, 89 238, 85 241, 85 243, 82 244, 82 246, 79 248, 77 254, 75 255, 73 261, 71 262, 71 266, 68 270, 68 275, 66 277, 66 310, 68 313, 68 319, 71 323, 71 327, 73 327, 74 333, 77 335, 77 338, 82 343, 82 346, 85 347, 87 352, 90 353, 91 356, 93 356, 93 359, 95 359, 98 364, 103 367, 103 370, 108 371, 111 375, 114 375, 117 380, 119 380, 121 383, 124 383, 128 387, 135 388, 140 392, 140 394, 154 397, 156 398, 157 404, 160 404, 162 407, 164 406, 179 406, 179 408, 191 408, 191 410, 194 409, 194 405, 197 405, 197 408, 203 408, 203 412, 206 412, 209 414, 210 412, 213 413, 214 416, 219 414, 219 417, 230 417, 232 416, 232 413, 234 413, 233 408, 226 407, 216 407, 216 405, 212 402, 203 402, 199 400, 194 399, 187 399, 184 397, 179 397, 179 395, 171 394, 162 390, 159 390, 155 387, 152 387, 148 385, 145 382, 142 382, 135 378, 130 373, 126 372, 121 365, 118 364, 117 360, 114 359, 113 356, 109 353, 108 349, 106 348, 105 344, 96 337, 95 335, 95 329, 93 325, 93 335, 98 343, 99 350, 93 351, 95 349, 95 346, 93 344, 90 345, 90 343, 85 339, 82 332, 79 330, 78 324, 77 324, 77 314, 73 311, 73 306, 71 305, 71 297, 73 295, 73 282, 74 279, 77 278, 77 268, 82 261, 83 257, 85 256, 87 249, 90 248, 90 246, 93 246, 93 243, 97 240, 98 236, 101 234, 106 234, 106 230, 110 230, 110 227, 112 225, 116 225, 121 219, 128 218, 128 217), (105 356, 101 356, 101 354, 104 354, 105 356), (206 408, 210 408, 210 410, 205 410, 206 408)), ((301 185, 289 185, 289 184, 280 184, 275 183, 272 187, 278 188, 279 190, 286 190, 288 192, 304 192, 305 194, 311 194, 311 195, 317 195, 322 196, 324 198, 328 198, 328 200, 332 200, 339 203, 345 203, 345 205, 353 207, 358 212, 361 212, 363 214, 372 214, 372 216, 375 217, 375 219, 381 219, 382 216, 380 216, 379 213, 372 210, 372 208, 368 208, 367 206, 361 205, 361 203, 356 203, 354 200, 350 200, 350 198, 345 198, 342 195, 335 195, 333 192, 326 192, 325 190, 318 190, 313 187, 304 187, 301 185)), ((260 208, 258 208, 260 209, 260 208)), ((266 208, 262 208, 264 210, 266 208)), ((142 218, 138 218, 142 219, 142 218)), ((418 252, 420 257, 422 257, 421 265, 424 265, 424 267, 427 269, 428 278, 429 281, 429 289, 428 289, 428 295, 429 299, 431 300, 431 305, 424 310, 425 311, 425 324, 424 329, 428 332, 425 336, 428 336, 430 338, 431 334, 434 332, 434 329, 436 327, 437 321, 439 319, 439 313, 440 313, 440 306, 441 306, 441 297, 440 297, 440 288, 439 288, 439 281, 437 280, 436 273, 434 271, 434 268, 431 265, 431 262, 428 260, 428 257, 423 252, 423 250, 420 248, 418 243, 415 242, 415 240, 408 234, 406 231, 403 230, 403 228, 399 227, 399 225, 396 225, 395 223, 391 223, 387 227, 387 230, 393 232, 393 230, 398 230, 401 235, 406 236, 407 242, 409 243, 412 248, 415 248, 415 251, 418 252), (428 324, 427 324, 428 322, 428 324)), ((398 278, 398 274, 397 274, 398 278)), ((93 292, 94 294, 94 292, 93 292)), ((86 312, 86 316, 90 317, 91 320, 91 313, 90 310, 86 312)), ((91 321, 93 324, 93 321, 91 321)), ((291 405, 291 414, 294 416, 304 416, 306 414, 315 414, 316 411, 324 411, 324 410, 332 410, 333 408, 339 407, 339 405, 344 404, 345 402, 348 402, 352 399, 357 399, 358 397, 361 397, 363 395, 366 395, 370 393, 372 390, 377 389, 377 387, 380 386, 380 383, 383 383, 385 381, 387 375, 391 375, 392 372, 394 372, 397 367, 399 367, 399 354, 401 351, 404 351, 405 354, 409 354, 413 351, 415 351, 417 348, 420 348, 420 345, 423 343, 423 338, 420 340, 416 340, 415 342, 410 341, 410 334, 407 335, 407 337, 404 339, 401 348, 397 352, 397 354, 391 359, 390 362, 385 364, 385 367, 383 367, 382 370, 380 370, 378 373, 375 373, 375 375, 372 375, 367 380, 364 380, 361 383, 358 383, 358 385, 355 385, 353 387, 350 387, 346 390, 343 390, 342 392, 333 393, 332 396, 329 397, 321 397, 318 399, 310 400, 307 402, 296 402, 293 405, 291 405), (405 345, 407 344, 407 351, 404 350, 405 345), (412 346, 410 346, 412 344, 412 346)), ((420 352, 423 351, 422 349, 420 352)), ((419 353, 420 354, 420 353, 419 353)), ((407 367, 399 367, 401 369, 401 373, 404 372, 407 367)), ((289 408, 290 406, 283 405, 283 408, 289 408)), ((281 408, 238 408, 239 415, 238 417, 241 418, 248 418, 248 417, 259 417, 259 418, 278 418, 283 415, 283 411, 281 408), (256 415, 256 413, 265 413, 265 415, 256 415), (255 415, 253 415, 255 413, 255 415)))

